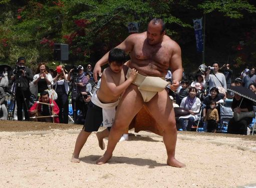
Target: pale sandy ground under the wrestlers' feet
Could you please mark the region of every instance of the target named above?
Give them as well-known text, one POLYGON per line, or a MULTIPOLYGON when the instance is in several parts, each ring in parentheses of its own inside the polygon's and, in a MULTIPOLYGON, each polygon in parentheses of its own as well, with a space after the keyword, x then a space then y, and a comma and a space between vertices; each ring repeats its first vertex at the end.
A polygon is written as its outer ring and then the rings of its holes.
POLYGON ((256 136, 179 132, 176 159, 187 167, 177 169, 162 137, 131 130, 99 166, 95 133, 81 163, 70 162, 81 127, 0 121, 0 188, 256 188, 256 136))

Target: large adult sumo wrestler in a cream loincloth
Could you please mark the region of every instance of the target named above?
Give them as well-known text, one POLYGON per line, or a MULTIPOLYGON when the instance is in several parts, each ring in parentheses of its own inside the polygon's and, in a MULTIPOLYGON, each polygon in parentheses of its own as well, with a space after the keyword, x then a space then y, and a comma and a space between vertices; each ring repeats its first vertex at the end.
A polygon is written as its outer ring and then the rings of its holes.
MULTIPOLYGON (((182 78, 179 45, 165 35, 165 24, 162 19, 154 18, 149 22, 146 32, 131 34, 116 47, 130 52, 129 67, 138 70, 139 74, 133 84, 126 89, 119 102, 115 122, 109 134, 107 150, 98 159, 97 164, 104 164, 112 157, 124 129, 145 105, 163 130, 163 142, 168 157, 167 165, 185 167, 175 159, 177 130, 174 110, 172 101, 164 89, 168 82, 162 80, 170 67, 173 79, 171 89, 176 90, 179 86, 182 78)), ((95 80, 101 73, 101 66, 107 61, 108 53, 96 63, 93 71, 95 80)))

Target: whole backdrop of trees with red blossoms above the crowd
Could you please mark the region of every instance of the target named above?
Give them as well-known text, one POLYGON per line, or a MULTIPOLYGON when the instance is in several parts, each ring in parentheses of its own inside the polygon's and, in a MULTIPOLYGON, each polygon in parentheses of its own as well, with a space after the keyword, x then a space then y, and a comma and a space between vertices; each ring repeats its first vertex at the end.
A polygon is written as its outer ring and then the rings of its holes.
POLYGON ((129 35, 128 22, 138 22, 142 32, 150 19, 161 17, 167 34, 182 48, 183 65, 197 67, 201 54, 195 49, 192 18, 205 14, 206 61, 228 57, 239 67, 256 59, 253 2, 0 0, 0 61, 14 65, 19 56, 25 56, 29 66, 35 67, 41 61, 54 61, 54 43, 66 43, 70 49, 68 63, 95 64, 129 35))

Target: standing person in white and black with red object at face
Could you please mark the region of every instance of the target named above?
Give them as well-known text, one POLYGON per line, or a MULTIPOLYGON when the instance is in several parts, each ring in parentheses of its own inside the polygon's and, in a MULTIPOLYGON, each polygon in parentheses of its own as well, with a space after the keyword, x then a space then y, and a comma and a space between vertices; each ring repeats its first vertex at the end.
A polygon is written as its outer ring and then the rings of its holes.
POLYGON ((56 77, 53 79, 55 91, 58 94, 56 103, 60 109, 59 120, 60 123, 69 123, 69 80, 68 71, 63 65, 59 65, 58 72, 56 69, 56 77))

